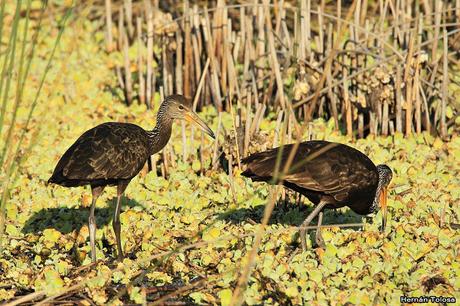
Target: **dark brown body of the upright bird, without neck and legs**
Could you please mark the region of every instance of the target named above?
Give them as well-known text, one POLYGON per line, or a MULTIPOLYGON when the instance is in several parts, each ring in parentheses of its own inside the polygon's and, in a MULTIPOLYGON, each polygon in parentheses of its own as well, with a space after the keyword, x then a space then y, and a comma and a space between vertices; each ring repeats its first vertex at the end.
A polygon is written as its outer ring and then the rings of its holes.
POLYGON ((150 154, 147 132, 130 123, 107 122, 81 135, 59 160, 50 183, 110 185, 131 179, 150 154))

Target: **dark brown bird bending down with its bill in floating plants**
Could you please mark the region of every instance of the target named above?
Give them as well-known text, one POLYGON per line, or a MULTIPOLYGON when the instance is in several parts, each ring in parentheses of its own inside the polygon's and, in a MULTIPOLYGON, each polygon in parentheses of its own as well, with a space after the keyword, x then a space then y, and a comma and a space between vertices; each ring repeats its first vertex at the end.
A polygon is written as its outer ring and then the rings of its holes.
MULTIPOLYGON (((253 154, 242 160, 247 169, 242 175, 253 181, 281 183, 306 196, 316 205, 302 223, 306 227, 318 216, 316 242, 322 245, 320 226, 324 208, 350 207, 360 215, 382 209, 382 231, 387 216, 387 187, 392 171, 387 165, 375 166, 360 151, 340 143, 314 140, 300 143, 292 165, 285 174, 275 175, 287 163, 293 144, 253 154)), ((300 230, 302 248, 306 249, 306 229, 300 230)))

